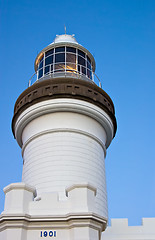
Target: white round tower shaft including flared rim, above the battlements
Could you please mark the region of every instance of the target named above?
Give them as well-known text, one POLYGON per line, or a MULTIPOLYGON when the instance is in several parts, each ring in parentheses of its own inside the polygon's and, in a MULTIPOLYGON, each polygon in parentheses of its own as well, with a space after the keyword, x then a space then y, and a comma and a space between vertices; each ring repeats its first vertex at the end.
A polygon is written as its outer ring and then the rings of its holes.
POLYGON ((107 218, 104 158, 113 124, 102 109, 81 100, 43 101, 20 115, 15 132, 22 180, 36 188, 37 197, 57 192, 65 200, 66 187, 89 183, 97 189, 95 212, 107 218))

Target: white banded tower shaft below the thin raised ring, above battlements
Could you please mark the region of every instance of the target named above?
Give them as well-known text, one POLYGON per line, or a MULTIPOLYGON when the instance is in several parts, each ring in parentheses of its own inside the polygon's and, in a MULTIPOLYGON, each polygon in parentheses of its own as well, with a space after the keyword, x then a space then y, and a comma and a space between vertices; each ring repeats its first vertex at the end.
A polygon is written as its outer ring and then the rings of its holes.
POLYGON ((88 182, 98 189, 98 212, 107 216, 104 152, 95 140, 78 133, 49 133, 31 141, 23 157, 23 182, 35 186, 38 197, 58 192, 64 199, 66 187, 88 182))

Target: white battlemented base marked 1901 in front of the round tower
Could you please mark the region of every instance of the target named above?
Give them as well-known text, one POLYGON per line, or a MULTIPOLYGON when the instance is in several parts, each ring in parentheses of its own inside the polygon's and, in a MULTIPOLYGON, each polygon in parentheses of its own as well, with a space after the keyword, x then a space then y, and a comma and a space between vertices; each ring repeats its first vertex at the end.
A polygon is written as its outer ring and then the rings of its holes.
POLYGON ((96 189, 87 183, 36 197, 35 188, 13 183, 4 188, 5 208, 0 215, 1 240, 100 240, 107 220, 94 213, 96 189))

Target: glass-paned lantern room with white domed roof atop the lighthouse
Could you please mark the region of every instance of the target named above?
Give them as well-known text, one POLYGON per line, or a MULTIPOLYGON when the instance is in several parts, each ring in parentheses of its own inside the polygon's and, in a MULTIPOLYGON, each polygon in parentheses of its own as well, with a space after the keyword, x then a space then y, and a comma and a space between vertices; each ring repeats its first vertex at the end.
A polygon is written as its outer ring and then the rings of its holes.
POLYGON ((73 35, 58 35, 36 57, 37 81, 57 77, 75 77, 93 81, 95 60, 77 43, 73 35))

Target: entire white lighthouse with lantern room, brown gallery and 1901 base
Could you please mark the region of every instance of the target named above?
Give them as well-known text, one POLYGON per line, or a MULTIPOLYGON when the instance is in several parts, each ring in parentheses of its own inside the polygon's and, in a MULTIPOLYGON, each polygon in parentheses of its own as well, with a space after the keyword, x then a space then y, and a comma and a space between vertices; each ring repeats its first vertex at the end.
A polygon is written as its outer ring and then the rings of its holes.
POLYGON ((100 240, 107 224, 104 160, 114 105, 94 82, 95 60, 71 35, 36 57, 37 80, 19 96, 12 130, 21 183, 4 188, 3 240, 100 240))

